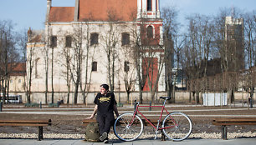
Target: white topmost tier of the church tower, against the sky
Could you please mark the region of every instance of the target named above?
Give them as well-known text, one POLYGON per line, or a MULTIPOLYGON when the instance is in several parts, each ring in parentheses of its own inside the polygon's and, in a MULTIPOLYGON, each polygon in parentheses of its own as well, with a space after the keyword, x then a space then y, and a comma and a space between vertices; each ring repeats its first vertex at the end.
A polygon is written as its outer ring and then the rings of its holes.
POLYGON ((160 18, 159 0, 137 0, 137 18, 160 18))

